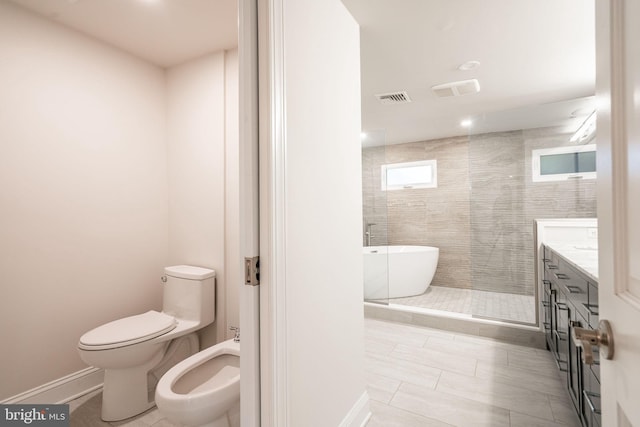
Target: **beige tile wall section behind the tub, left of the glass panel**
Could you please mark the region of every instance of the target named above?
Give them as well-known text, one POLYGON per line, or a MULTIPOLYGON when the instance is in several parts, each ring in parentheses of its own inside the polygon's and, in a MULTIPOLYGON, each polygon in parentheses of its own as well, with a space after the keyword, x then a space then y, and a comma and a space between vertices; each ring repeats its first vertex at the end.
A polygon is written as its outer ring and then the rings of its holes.
POLYGON ((468 155, 466 136, 363 150, 364 222, 377 224, 372 244, 440 248, 433 285, 471 287, 468 155), (382 164, 429 159, 438 161, 438 188, 381 191, 382 164))

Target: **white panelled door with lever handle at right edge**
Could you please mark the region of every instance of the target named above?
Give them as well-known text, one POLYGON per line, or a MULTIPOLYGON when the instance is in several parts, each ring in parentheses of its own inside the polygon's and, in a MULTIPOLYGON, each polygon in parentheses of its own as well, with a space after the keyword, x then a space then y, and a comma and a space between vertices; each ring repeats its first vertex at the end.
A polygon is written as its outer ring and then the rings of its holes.
POLYGON ((640 426, 640 2, 596 1, 603 426, 640 426))

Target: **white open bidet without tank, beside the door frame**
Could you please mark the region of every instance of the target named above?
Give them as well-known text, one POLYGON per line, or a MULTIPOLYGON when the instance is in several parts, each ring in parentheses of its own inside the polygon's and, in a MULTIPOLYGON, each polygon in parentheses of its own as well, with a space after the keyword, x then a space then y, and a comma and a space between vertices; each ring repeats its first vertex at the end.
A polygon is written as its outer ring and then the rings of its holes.
POLYGON ((240 343, 221 342, 176 364, 160 378, 162 415, 190 427, 240 424, 240 343))

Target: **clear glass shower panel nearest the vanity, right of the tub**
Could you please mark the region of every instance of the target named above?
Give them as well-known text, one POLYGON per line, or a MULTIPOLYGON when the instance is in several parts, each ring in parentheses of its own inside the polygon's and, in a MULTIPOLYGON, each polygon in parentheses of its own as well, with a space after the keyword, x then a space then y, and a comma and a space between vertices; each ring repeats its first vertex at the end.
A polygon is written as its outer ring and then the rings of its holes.
MULTIPOLYGON (((509 112, 476 117, 506 122, 509 112)), ((533 218, 527 212, 525 130, 469 135, 471 312, 473 317, 535 324, 533 218)), ((527 159, 529 164, 527 163, 527 159)))

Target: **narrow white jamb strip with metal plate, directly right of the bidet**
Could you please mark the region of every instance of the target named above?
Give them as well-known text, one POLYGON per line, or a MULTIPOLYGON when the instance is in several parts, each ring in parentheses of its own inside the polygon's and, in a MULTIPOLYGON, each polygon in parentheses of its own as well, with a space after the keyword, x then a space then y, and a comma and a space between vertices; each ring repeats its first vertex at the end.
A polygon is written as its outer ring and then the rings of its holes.
MULTIPOLYGON (((260 253, 258 209, 258 20, 256 0, 238 1, 240 68, 240 253, 260 253)), ((244 274, 242 275, 244 278, 244 274)), ((240 290, 240 415, 242 427, 260 425, 260 289, 240 290)))

